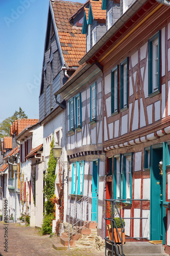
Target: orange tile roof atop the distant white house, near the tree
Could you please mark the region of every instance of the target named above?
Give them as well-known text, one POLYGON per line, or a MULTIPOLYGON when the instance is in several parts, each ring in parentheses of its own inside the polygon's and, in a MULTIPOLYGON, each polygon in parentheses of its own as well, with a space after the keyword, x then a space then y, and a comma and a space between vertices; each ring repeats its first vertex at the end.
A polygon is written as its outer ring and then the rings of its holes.
POLYGON ((16 136, 20 134, 26 127, 36 124, 39 119, 17 119, 11 125, 11 135, 16 133, 16 136))

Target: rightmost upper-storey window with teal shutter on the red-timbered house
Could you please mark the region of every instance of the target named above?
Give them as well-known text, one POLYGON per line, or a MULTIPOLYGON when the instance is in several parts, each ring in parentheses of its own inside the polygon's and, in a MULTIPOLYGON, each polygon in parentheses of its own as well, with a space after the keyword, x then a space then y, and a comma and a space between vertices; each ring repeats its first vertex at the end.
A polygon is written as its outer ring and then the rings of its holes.
POLYGON ((160 41, 159 31, 149 40, 149 96, 160 93, 160 41))

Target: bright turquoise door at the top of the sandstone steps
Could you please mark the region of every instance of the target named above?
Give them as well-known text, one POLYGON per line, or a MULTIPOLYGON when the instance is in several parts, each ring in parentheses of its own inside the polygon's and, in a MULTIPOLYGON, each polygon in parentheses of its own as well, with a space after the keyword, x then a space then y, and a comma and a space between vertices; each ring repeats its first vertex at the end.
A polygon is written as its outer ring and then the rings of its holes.
POLYGON ((91 220, 98 222, 98 161, 93 161, 91 220))

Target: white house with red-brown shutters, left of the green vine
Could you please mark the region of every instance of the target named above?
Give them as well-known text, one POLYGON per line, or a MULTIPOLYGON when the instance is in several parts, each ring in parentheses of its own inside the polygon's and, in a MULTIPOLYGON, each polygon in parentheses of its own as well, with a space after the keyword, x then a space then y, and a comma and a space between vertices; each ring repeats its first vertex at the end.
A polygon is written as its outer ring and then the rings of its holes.
MULTIPOLYGON (((40 144, 42 144, 42 126, 37 122, 37 119, 32 119, 33 125, 28 125, 25 129, 15 137, 17 143, 19 143, 19 152, 20 152, 20 202, 21 202, 21 215, 30 216, 30 226, 36 226, 35 224, 35 165, 32 165, 32 160, 29 157, 29 154, 40 144)), ((41 177, 41 187, 39 194, 42 195, 43 190, 43 168, 42 165, 39 165, 41 158, 38 158, 38 173, 41 177)), ((43 200, 41 200, 41 208, 43 208, 43 200)), ((42 220, 43 212, 39 212, 39 220, 42 220)))

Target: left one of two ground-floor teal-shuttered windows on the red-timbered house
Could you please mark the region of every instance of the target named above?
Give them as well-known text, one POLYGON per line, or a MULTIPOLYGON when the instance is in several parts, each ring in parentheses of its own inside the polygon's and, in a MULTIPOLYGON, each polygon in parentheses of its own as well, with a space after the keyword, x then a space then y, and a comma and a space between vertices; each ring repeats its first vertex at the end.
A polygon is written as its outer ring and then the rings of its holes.
POLYGON ((113 199, 121 199, 121 155, 113 158, 113 199))

